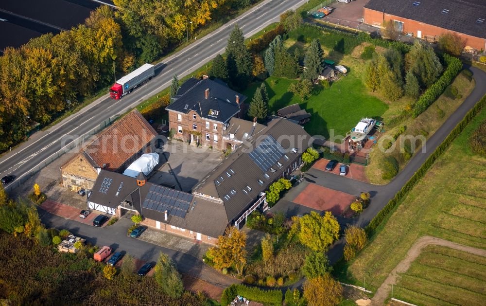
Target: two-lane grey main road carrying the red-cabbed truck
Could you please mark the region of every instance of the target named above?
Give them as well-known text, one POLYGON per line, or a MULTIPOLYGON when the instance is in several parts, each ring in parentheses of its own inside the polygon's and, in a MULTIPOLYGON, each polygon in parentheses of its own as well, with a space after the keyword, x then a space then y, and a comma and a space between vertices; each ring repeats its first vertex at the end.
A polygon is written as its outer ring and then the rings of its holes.
MULTIPOLYGON (((236 22, 245 36, 251 36, 268 24, 278 21, 281 13, 291 8, 295 9, 305 2, 306 0, 265 0, 207 36, 198 37, 187 48, 157 64, 156 76, 144 86, 118 101, 106 94, 49 130, 38 132, 35 137, 2 156, 0 177, 13 175, 16 181, 21 180, 38 165, 56 156, 73 139, 87 134, 109 117, 135 108, 145 99, 168 87, 174 74, 179 78, 188 75, 216 54, 223 53, 236 22)), ((15 186, 16 182, 11 184, 15 186)), ((9 188, 11 187, 7 186, 7 190, 9 188)))

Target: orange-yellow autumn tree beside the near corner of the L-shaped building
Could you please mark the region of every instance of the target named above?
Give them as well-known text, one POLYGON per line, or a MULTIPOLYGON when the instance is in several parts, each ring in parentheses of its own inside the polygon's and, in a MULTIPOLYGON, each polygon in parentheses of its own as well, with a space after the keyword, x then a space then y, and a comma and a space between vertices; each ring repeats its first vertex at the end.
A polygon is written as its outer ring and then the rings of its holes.
POLYGON ((243 273, 246 265, 246 234, 236 227, 226 228, 225 235, 218 237, 216 247, 209 249, 216 269, 236 267, 238 274, 243 273))

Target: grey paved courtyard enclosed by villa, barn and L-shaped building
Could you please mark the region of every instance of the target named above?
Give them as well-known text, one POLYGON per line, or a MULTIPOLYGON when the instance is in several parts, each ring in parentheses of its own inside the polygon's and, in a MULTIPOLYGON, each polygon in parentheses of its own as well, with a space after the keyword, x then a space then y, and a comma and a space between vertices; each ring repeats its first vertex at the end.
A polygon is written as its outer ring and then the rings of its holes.
POLYGON ((149 181, 187 192, 222 161, 221 152, 178 141, 164 144, 160 153, 159 165, 149 181))

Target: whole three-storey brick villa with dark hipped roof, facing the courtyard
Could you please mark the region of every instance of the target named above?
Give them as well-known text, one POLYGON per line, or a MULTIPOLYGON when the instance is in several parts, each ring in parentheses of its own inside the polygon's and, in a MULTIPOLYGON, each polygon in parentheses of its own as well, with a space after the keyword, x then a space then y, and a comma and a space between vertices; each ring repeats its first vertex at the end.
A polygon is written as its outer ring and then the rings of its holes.
POLYGON ((232 117, 243 116, 246 96, 221 82, 191 78, 182 84, 172 100, 166 109, 174 139, 226 149, 223 131, 232 117))

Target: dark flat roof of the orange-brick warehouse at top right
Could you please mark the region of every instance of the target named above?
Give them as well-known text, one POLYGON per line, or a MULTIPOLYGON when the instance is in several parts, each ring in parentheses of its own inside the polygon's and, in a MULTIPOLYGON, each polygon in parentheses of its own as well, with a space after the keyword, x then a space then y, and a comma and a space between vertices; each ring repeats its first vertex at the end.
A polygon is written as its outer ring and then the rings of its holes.
POLYGON ((365 8, 431 24, 440 28, 486 38, 485 0, 369 0, 365 8), (420 2, 419 5, 413 5, 420 2), (443 14, 443 10, 449 10, 443 14))

